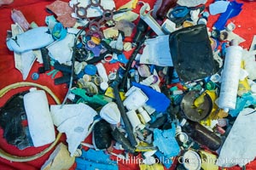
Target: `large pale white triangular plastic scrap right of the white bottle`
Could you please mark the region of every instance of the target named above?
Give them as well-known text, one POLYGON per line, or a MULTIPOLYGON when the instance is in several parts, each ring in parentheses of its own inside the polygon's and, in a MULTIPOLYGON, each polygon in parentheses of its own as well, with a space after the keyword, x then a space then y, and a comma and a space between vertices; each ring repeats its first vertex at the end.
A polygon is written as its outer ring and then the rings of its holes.
POLYGON ((61 133, 66 133, 68 150, 73 156, 79 144, 88 136, 96 111, 85 104, 50 105, 53 122, 61 133))

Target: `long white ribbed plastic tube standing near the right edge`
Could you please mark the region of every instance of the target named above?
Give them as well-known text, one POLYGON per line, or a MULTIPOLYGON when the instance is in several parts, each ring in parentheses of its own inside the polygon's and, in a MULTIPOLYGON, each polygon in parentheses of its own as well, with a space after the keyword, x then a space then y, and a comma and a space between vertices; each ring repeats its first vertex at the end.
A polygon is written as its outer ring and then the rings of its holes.
POLYGON ((236 109, 236 95, 241 68, 242 48, 233 41, 227 48, 224 62, 224 71, 221 75, 221 88, 218 98, 218 107, 225 112, 236 109))

